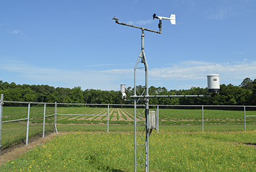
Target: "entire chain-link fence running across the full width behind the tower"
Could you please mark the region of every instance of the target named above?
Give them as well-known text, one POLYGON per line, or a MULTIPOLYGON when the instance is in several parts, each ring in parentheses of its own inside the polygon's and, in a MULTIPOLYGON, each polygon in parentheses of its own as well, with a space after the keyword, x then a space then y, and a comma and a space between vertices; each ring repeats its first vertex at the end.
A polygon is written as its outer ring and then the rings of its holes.
MULTIPOLYGON (((158 132, 256 129, 256 106, 150 105, 149 108, 157 112, 158 132)), ((1 150, 58 131, 134 131, 133 104, 28 103, 3 101, 1 95, 0 113, 1 150)), ((140 104, 135 118, 142 123, 143 113, 145 106, 140 104)))

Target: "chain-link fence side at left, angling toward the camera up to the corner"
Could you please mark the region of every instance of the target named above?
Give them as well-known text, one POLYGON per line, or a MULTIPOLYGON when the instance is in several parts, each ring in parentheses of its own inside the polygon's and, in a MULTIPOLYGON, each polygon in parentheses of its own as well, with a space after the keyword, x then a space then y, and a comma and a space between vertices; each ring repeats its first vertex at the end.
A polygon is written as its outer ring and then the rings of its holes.
POLYGON ((54 131, 54 103, 3 101, 1 95, 1 150, 19 143, 28 145, 31 138, 42 138, 54 131), (4 106, 4 108, 3 108, 4 106))

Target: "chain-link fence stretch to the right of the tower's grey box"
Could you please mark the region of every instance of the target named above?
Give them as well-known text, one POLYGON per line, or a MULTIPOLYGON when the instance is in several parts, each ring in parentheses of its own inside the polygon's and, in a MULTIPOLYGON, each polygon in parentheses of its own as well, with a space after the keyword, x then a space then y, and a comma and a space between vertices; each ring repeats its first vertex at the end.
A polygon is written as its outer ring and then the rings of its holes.
POLYGON ((155 105, 160 129, 246 131, 256 129, 256 106, 155 105))

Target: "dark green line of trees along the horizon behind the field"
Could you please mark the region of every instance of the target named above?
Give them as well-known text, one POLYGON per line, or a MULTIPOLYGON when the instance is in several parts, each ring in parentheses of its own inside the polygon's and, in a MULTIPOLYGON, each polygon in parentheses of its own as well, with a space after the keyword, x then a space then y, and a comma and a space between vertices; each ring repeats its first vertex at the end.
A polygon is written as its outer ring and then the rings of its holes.
MULTIPOLYGON (((144 86, 136 86, 143 92, 144 86)), ((214 97, 161 97, 150 98, 150 104, 176 105, 256 105, 256 79, 245 78, 241 85, 220 85, 220 94, 214 97)), ((207 88, 192 87, 188 90, 168 90, 165 87, 148 88, 149 95, 198 95, 206 94, 207 88)), ((120 91, 115 90, 82 90, 51 87, 49 85, 16 85, 0 80, 0 94, 4 94, 5 101, 27 101, 44 103, 88 103, 88 104, 132 104, 132 101, 122 100, 120 91)), ((126 89, 127 97, 134 94, 132 87, 126 89)), ((143 103, 143 102, 141 102, 143 103)))

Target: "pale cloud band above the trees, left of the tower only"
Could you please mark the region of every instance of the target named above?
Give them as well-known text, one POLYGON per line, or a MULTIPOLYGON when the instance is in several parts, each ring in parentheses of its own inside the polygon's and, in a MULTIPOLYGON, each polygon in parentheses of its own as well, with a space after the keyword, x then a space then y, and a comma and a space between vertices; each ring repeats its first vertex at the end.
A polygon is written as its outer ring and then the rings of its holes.
POLYGON ((0 63, 3 67, 0 70, 16 73, 15 76, 24 80, 24 83, 27 81, 27 83, 47 84, 54 87, 81 86, 83 89, 115 90, 119 89, 120 80, 133 76, 132 69, 69 71, 67 69, 42 68, 17 61, 12 57, 0 57, 0 63))

